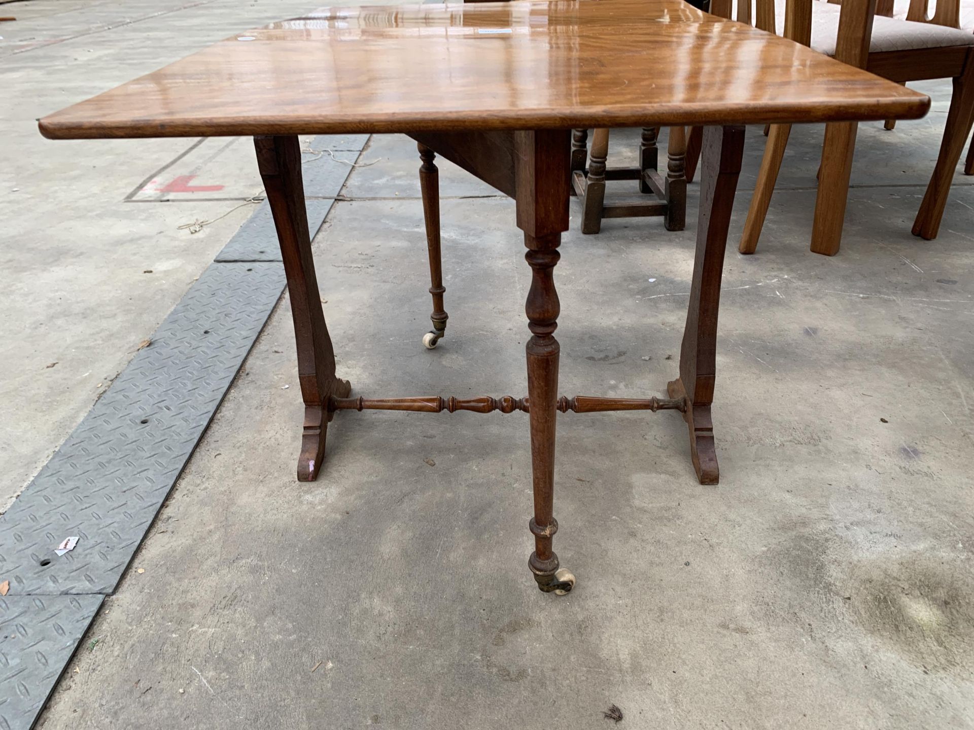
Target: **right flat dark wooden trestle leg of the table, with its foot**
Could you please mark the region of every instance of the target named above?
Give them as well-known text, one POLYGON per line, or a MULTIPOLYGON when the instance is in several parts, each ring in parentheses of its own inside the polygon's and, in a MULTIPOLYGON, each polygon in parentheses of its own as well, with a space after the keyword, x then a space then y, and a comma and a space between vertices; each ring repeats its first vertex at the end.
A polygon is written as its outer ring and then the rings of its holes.
POLYGON ((717 310, 724 249, 743 150, 743 127, 704 128, 700 213, 687 327, 680 348, 680 378, 667 387, 671 398, 687 399, 684 420, 690 427, 690 451, 700 484, 717 484, 720 475, 710 404, 717 370, 717 310))

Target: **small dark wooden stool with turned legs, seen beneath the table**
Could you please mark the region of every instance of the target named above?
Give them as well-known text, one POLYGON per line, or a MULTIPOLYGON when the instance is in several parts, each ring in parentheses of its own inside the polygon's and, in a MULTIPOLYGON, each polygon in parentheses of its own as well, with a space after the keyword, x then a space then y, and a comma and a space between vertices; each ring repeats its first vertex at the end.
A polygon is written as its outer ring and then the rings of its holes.
POLYGON ((656 136, 659 128, 643 128, 639 145, 639 166, 606 167, 609 129, 595 129, 585 169, 587 129, 572 132, 572 190, 581 201, 581 233, 597 234, 603 218, 663 217, 667 231, 683 231, 687 221, 687 141, 684 128, 671 127, 666 156, 666 178, 657 171, 656 136), (638 180, 639 192, 656 200, 606 202, 607 180, 638 180))

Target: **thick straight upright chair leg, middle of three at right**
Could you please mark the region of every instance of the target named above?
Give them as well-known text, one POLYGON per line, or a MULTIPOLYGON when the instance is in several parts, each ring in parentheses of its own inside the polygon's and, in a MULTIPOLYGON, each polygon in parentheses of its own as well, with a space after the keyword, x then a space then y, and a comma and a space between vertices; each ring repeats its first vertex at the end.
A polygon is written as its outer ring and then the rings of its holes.
POLYGON ((814 253, 825 256, 839 253, 857 129, 855 122, 838 122, 825 126, 822 165, 818 169, 818 195, 815 196, 815 218, 811 224, 811 250, 814 253))

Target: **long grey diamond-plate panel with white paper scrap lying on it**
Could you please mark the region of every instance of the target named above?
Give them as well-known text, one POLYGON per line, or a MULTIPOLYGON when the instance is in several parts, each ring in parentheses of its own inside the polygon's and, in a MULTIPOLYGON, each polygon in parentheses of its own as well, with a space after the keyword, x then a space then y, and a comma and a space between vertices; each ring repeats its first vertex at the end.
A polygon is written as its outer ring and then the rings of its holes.
POLYGON ((283 286, 279 263, 206 269, 0 517, 12 595, 114 591, 283 286))

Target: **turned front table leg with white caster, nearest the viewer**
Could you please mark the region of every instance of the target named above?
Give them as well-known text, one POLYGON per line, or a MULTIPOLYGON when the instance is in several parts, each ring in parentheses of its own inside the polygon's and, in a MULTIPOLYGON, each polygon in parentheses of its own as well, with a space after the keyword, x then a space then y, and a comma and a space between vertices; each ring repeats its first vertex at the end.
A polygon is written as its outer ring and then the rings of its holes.
POLYGON ((575 576, 558 566, 551 538, 554 519, 554 443, 558 403, 558 293, 553 270, 558 263, 561 234, 568 230, 568 184, 571 165, 569 131, 518 131, 514 135, 517 227, 524 232, 525 258, 531 266, 531 289, 525 312, 531 339, 528 397, 531 402, 531 466, 535 516, 529 523, 535 552, 528 560, 538 587, 545 593, 567 593, 575 576))

